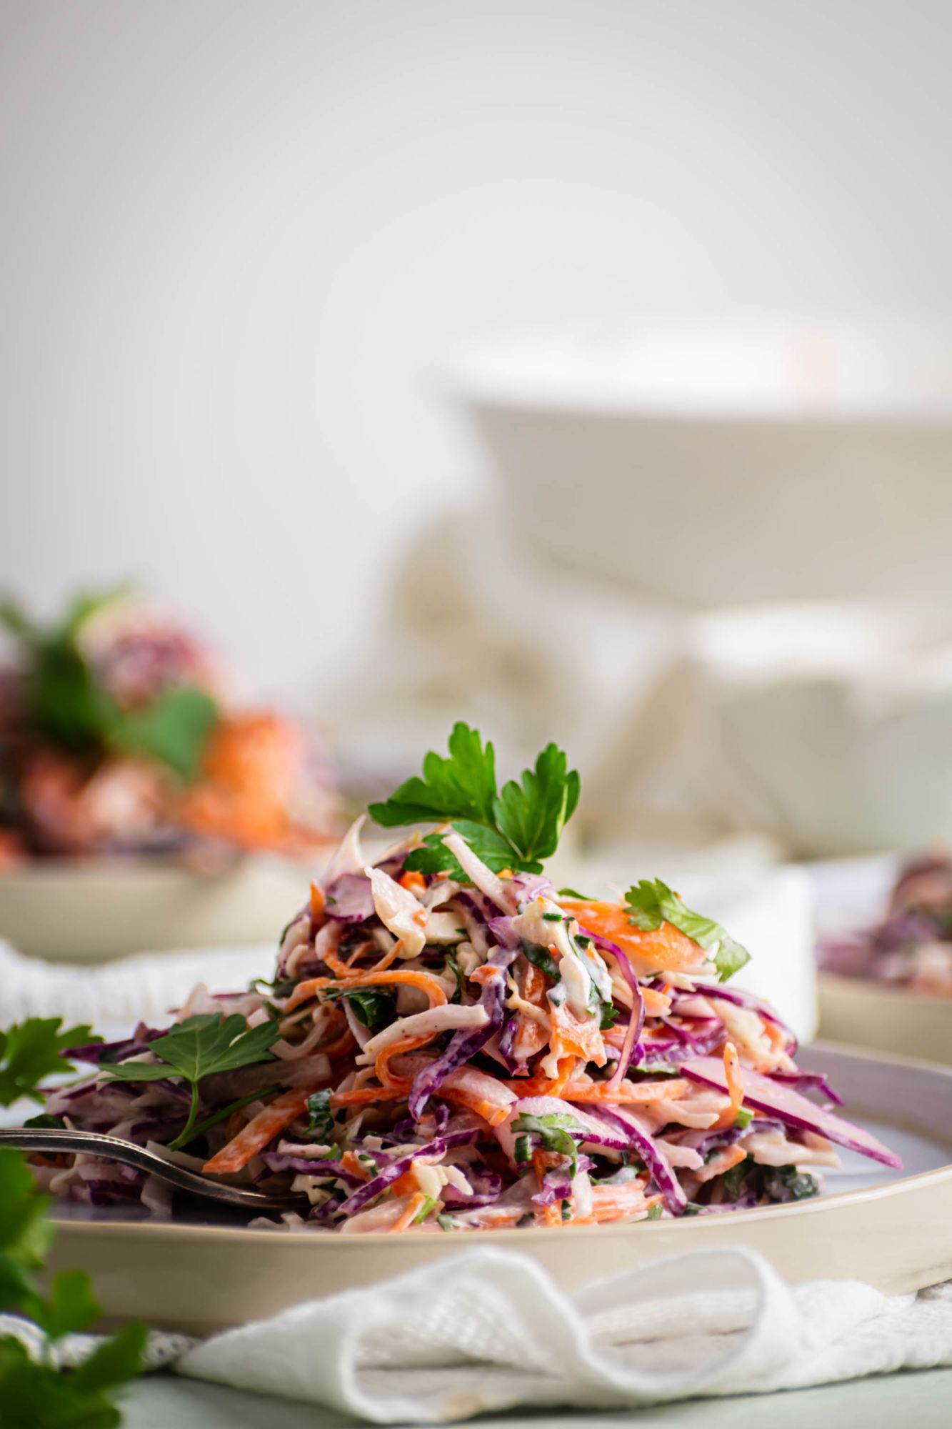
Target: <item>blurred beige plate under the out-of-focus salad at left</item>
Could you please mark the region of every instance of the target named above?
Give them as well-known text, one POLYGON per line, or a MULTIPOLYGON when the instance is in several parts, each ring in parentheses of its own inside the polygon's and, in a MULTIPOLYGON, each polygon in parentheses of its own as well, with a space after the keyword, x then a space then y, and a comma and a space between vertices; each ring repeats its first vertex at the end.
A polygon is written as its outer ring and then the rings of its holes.
POLYGON ((60 963, 264 943, 303 902, 309 876, 276 857, 242 859, 220 873, 163 859, 51 860, 0 873, 0 937, 60 963))

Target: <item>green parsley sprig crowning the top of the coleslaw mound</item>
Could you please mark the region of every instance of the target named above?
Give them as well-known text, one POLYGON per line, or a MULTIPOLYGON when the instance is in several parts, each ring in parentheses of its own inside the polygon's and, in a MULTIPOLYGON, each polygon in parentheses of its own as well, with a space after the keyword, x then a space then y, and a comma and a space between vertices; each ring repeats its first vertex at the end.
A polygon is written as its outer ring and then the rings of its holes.
MULTIPOLYGON (((533 769, 496 787, 496 752, 479 730, 462 722, 449 737, 449 757, 433 750, 423 760, 423 777, 406 779, 383 803, 370 805, 370 817, 386 829, 410 823, 452 823, 493 872, 542 872, 562 829, 579 802, 579 775, 557 745, 546 745, 533 769)), ((465 880, 440 833, 406 859, 420 873, 452 872, 465 880)))

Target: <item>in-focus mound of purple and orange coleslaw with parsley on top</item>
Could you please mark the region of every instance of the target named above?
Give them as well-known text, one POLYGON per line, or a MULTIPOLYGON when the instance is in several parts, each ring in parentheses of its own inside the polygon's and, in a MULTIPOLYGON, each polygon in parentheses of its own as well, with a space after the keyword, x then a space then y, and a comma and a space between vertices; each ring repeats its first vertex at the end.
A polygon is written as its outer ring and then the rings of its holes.
MULTIPOLYGON (((369 862, 357 820, 270 982, 197 989, 167 1032, 71 1049, 96 1072, 46 1115, 293 1189, 289 1223, 343 1235, 796 1200, 838 1146, 899 1166, 830 1109, 773 1009, 726 986, 748 953, 719 925, 660 880, 616 903, 553 887, 542 865, 576 800, 553 745, 497 792, 492 745, 457 725, 449 759, 372 806, 433 832, 369 862)), ((63 1196, 170 1210, 167 1187, 100 1159, 37 1173, 63 1196)))

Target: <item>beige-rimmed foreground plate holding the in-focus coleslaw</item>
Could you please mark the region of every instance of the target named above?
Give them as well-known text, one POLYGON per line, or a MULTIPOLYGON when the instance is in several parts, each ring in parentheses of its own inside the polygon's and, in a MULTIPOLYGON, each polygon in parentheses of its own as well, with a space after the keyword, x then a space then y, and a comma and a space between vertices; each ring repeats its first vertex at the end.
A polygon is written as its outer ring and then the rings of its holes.
MULTIPOLYGON (((745 1245, 789 1280, 862 1279, 888 1293, 952 1276, 952 1070, 809 1047, 805 1065, 826 1072, 846 1113, 905 1160, 891 1172, 848 1152, 823 1196, 792 1206, 576 1230, 485 1232, 533 1255, 570 1289, 662 1255, 745 1245)), ((130 1220, 81 1206, 57 1212, 53 1263, 84 1266, 111 1320, 209 1333, 294 1305, 372 1285, 473 1243, 462 1235, 334 1236, 249 1230, 222 1220, 130 1220)))

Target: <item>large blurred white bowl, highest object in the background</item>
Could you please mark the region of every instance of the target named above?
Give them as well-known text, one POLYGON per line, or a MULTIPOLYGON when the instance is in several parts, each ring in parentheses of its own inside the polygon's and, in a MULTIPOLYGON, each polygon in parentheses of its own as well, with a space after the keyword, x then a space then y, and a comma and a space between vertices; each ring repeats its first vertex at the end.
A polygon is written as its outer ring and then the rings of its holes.
POLYGON ((500 339, 450 367, 525 540, 689 606, 952 600, 952 324, 500 339))

